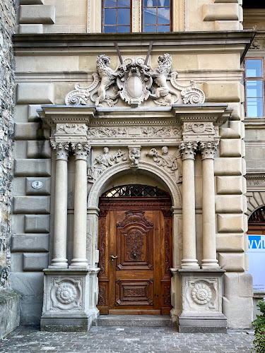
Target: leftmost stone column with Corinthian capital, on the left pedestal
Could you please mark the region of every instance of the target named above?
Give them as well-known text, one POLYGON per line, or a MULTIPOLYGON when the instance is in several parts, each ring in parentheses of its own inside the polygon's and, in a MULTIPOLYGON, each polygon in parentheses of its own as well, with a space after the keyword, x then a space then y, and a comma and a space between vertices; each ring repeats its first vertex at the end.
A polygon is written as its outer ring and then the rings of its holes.
POLYGON ((49 268, 67 268, 67 162, 69 143, 53 143, 56 153, 55 195, 54 195, 54 247, 49 268))

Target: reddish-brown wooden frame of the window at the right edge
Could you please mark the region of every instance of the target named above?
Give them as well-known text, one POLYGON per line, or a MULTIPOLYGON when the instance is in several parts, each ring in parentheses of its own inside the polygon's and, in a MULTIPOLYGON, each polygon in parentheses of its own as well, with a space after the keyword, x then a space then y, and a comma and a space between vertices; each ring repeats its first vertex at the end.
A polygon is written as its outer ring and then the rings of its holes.
MULTIPOLYGON (((244 85, 245 85, 245 117, 252 119, 252 118, 263 118, 265 116, 265 77, 264 77, 264 57, 262 56, 252 56, 252 57, 247 57, 244 60, 244 85), (247 60, 261 60, 261 74, 262 76, 257 76, 257 77, 253 77, 253 76, 247 76, 247 60), (262 82, 262 109, 263 109, 263 114, 262 116, 248 116, 247 115, 247 81, 258 81, 260 80, 262 82)), ((252 98, 252 97, 249 97, 252 98)), ((258 98, 258 97, 257 97, 258 98)))

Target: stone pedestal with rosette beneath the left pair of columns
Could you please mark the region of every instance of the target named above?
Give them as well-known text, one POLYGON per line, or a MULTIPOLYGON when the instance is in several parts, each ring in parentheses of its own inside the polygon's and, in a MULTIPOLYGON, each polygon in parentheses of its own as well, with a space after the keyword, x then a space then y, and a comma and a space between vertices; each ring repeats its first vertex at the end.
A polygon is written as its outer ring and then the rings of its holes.
POLYGON ((44 299, 40 329, 88 331, 93 321, 89 310, 90 270, 44 270, 44 299))

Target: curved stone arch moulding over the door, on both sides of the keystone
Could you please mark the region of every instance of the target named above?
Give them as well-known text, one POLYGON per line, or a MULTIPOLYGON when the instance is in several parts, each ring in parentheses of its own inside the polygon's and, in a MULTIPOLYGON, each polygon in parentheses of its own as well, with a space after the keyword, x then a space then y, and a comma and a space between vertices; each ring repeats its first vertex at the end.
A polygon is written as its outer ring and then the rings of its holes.
MULTIPOLYGON (((109 181, 110 178, 114 177, 115 174, 128 171, 129 169, 131 169, 130 162, 122 162, 107 168, 90 189, 90 193, 88 195, 88 208, 98 207, 100 195, 103 191, 105 191, 105 184, 107 184, 107 181, 109 181)), ((172 206, 181 207, 182 198, 179 191, 179 186, 170 174, 167 174, 164 169, 159 168, 157 165, 148 162, 139 162, 139 169, 142 169, 150 174, 154 174, 156 177, 160 178, 164 184, 167 184, 170 191, 170 196, 172 197, 172 206)))

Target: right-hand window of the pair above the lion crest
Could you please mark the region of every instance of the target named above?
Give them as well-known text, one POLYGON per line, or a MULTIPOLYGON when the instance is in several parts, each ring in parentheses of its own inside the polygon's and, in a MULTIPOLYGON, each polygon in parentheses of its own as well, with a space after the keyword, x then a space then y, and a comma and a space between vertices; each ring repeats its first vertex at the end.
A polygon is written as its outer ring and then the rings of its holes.
POLYGON ((143 32, 170 32, 170 0, 143 0, 143 32))

